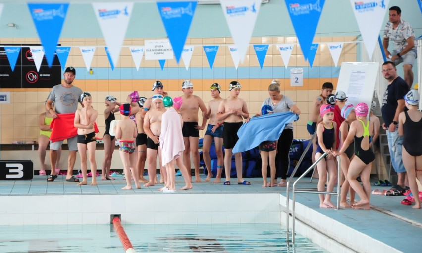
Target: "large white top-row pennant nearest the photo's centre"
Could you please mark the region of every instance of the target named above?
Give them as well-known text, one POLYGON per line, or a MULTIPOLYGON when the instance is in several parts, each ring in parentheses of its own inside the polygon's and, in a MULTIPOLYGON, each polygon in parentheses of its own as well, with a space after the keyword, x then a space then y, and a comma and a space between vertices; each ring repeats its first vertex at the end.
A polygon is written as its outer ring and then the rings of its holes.
POLYGON ((220 0, 231 37, 243 63, 262 0, 220 0))

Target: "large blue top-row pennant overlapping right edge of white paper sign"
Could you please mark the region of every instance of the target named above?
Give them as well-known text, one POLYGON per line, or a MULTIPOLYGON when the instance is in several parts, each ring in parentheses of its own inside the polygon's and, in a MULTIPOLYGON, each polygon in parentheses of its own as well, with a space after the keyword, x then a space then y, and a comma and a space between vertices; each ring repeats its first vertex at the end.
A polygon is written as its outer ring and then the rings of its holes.
POLYGON ((158 12, 176 56, 177 64, 179 64, 185 46, 196 4, 197 1, 157 2, 158 12))

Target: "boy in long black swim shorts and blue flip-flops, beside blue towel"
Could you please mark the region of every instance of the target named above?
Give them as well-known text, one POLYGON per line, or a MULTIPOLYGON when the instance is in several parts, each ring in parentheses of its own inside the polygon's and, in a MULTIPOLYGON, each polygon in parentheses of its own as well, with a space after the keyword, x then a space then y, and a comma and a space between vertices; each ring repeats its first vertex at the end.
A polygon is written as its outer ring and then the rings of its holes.
MULTIPOLYGON (((223 100, 218 107, 217 119, 224 120, 224 168, 226 172, 226 181, 224 182, 224 185, 230 185, 231 158, 233 155, 232 150, 237 140, 239 140, 237 131, 243 124, 242 118, 245 118, 246 122, 249 122, 249 111, 246 106, 246 102, 238 97, 240 88, 242 88, 242 86, 239 82, 230 82, 230 96, 223 100)), ((236 153, 234 158, 237 173, 237 184, 250 185, 250 182, 243 179, 242 153, 236 153)))

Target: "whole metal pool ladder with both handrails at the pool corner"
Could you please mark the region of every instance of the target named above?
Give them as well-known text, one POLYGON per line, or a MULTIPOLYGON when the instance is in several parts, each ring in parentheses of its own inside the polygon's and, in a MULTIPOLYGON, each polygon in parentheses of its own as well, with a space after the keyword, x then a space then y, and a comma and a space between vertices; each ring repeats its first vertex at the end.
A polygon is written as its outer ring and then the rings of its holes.
MULTIPOLYGON (((319 192, 318 189, 315 188, 299 188, 296 189, 296 186, 298 182, 306 176, 312 169, 314 169, 315 166, 317 166, 318 162, 325 158, 327 156, 327 153, 324 153, 321 157, 319 157, 296 181, 293 183, 293 198, 292 198, 292 231, 290 232, 290 182, 292 181, 293 177, 296 174, 296 171, 299 169, 300 164, 302 163, 303 158, 305 157, 305 154, 308 152, 310 146, 312 145, 312 142, 317 136, 317 131, 315 131, 314 135, 312 136, 310 142, 306 146, 304 152, 302 153, 302 156, 300 157, 298 163, 296 164, 295 169, 293 170, 292 174, 289 177, 289 180, 287 181, 286 185, 286 242, 289 243, 289 235, 292 235, 292 241, 291 243, 295 244, 295 206, 296 206, 296 193, 313 193, 313 194, 331 194, 331 195, 337 195, 337 209, 340 207, 340 156, 337 156, 337 192, 319 192)), ((314 171, 315 172, 315 171, 314 171)), ((314 175, 314 173, 312 173, 314 175)), ((328 179, 328 177, 327 177, 328 179)), ((312 180, 312 177, 311 177, 312 180)), ((311 182, 311 181, 310 181, 311 182)))

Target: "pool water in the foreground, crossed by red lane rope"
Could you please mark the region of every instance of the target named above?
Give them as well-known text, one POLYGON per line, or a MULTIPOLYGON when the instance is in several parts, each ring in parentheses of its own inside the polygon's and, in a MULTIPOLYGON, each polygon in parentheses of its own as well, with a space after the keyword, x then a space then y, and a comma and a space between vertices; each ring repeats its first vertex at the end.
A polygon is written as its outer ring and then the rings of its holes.
MULTIPOLYGON (((327 253, 280 224, 123 225, 137 253, 327 253)), ((0 226, 1 253, 124 253, 112 225, 0 226)))

